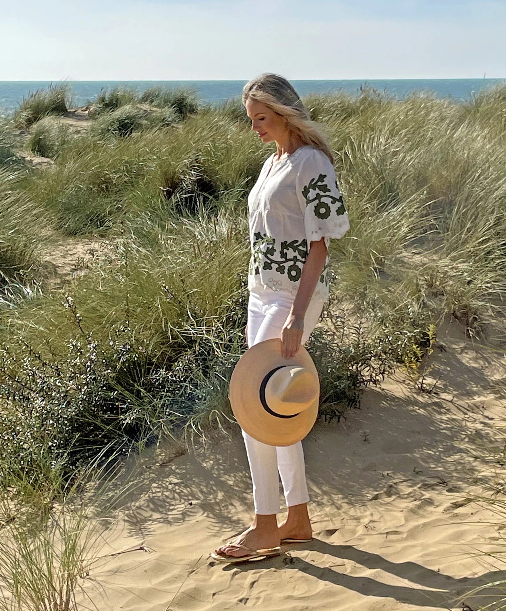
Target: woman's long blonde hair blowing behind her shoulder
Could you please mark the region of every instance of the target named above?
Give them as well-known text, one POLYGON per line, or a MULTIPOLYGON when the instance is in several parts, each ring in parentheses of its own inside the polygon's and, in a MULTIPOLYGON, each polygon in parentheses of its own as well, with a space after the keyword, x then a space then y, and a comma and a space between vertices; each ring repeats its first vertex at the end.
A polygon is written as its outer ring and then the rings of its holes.
POLYGON ((247 82, 242 89, 242 103, 255 100, 266 104, 274 112, 283 116, 289 130, 297 134, 304 144, 317 148, 334 164, 332 150, 327 144, 321 123, 312 121, 308 109, 298 93, 286 78, 264 72, 247 82))

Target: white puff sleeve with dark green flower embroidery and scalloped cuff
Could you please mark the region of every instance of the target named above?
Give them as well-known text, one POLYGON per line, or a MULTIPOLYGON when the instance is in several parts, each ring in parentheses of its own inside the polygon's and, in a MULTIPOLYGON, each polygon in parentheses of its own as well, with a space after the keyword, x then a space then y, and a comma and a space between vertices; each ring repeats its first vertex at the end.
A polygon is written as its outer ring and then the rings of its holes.
POLYGON ((308 252, 311 241, 324 237, 328 248, 330 238, 342 238, 350 223, 334 166, 325 153, 313 148, 305 156, 295 178, 295 188, 304 214, 308 252))

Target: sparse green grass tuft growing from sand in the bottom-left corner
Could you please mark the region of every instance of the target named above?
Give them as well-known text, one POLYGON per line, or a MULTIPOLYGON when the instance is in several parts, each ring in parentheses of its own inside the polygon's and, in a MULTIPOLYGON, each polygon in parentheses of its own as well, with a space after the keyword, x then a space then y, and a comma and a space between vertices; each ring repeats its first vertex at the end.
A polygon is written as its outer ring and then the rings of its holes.
POLYGON ((120 483, 100 453, 71 483, 25 505, 0 492, 0 610, 77 611, 90 570, 103 557, 114 512, 136 483, 120 483), (57 494, 57 497, 55 496, 57 494))

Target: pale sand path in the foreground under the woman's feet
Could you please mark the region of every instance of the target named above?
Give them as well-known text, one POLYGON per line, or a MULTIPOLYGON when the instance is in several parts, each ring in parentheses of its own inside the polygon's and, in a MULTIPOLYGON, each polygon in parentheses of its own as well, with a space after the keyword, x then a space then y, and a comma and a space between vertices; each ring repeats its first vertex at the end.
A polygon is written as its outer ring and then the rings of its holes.
POLYGON ((242 437, 165 466, 147 453, 137 458, 130 477, 139 489, 101 553, 145 549, 95 563, 82 583, 96 608, 476 611, 497 601, 497 590, 488 591, 493 598, 468 593, 506 578, 497 573, 506 563, 496 570, 471 554, 497 549, 504 526, 488 522, 506 522, 466 495, 504 485, 491 448, 504 445, 497 382, 506 360, 458 338, 445 343, 431 372, 441 375, 439 397, 392 378, 367 390, 344 423, 317 423, 303 442, 315 539, 280 557, 241 565, 209 558, 253 515, 242 437))

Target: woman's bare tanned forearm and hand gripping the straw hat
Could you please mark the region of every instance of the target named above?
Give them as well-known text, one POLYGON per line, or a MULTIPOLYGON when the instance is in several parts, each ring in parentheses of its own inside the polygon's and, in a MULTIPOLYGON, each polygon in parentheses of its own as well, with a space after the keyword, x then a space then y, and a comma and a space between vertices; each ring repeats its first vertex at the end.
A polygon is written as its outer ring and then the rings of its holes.
POLYGON ((327 257, 325 238, 309 244, 308 256, 300 274, 297 295, 281 330, 281 356, 283 358, 290 359, 295 356, 300 346, 304 332, 304 316, 318 284, 323 265, 325 265, 325 257, 327 257))

